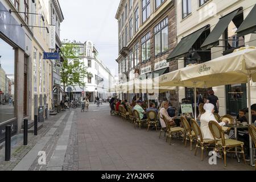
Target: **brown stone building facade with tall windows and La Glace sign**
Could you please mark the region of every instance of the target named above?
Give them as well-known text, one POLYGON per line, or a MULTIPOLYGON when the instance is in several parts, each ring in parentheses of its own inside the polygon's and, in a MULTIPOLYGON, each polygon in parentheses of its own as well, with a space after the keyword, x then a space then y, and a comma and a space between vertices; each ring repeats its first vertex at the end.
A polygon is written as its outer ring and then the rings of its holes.
MULTIPOLYGON (((115 15, 118 20, 119 81, 134 79, 137 73, 147 77, 159 76, 177 69, 177 61, 167 63, 176 46, 175 3, 171 0, 121 0, 115 15)), ((122 94, 131 102, 134 96, 146 100, 146 94, 122 94)), ((177 106, 177 92, 158 94, 161 101, 171 100, 177 106)))

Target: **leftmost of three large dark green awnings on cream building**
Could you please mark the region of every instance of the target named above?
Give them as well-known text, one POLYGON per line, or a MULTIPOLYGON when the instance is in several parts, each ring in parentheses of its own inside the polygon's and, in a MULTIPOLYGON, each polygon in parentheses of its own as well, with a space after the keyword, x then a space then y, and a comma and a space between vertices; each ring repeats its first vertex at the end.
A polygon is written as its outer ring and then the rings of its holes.
POLYGON ((185 36, 180 40, 179 44, 175 47, 174 51, 170 53, 167 58, 167 62, 172 60, 179 59, 180 57, 184 57, 189 50, 192 48, 193 44, 195 44, 196 40, 199 39, 200 35, 209 27, 209 24, 192 34, 185 36))

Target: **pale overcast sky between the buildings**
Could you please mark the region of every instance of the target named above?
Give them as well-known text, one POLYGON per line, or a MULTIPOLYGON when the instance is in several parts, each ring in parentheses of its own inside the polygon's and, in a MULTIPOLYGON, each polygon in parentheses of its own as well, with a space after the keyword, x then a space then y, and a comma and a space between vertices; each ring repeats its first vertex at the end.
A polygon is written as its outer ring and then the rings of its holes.
POLYGON ((115 13, 120 0, 59 0, 64 15, 61 40, 91 40, 100 59, 118 75, 118 24, 115 13))

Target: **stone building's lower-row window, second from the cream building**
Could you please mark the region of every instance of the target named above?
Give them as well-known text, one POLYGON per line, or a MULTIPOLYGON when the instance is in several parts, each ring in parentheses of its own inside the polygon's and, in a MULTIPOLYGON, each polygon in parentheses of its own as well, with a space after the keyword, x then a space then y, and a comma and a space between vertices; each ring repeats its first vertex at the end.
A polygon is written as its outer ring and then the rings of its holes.
POLYGON ((142 63, 150 60, 150 32, 141 39, 142 63))

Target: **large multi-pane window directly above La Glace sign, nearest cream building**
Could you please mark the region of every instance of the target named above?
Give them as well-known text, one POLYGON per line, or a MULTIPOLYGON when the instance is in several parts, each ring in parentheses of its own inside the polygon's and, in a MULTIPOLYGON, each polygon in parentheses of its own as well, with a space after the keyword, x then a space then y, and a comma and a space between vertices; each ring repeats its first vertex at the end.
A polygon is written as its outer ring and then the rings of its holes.
POLYGON ((154 28, 155 56, 168 51, 168 18, 164 19, 154 28))

